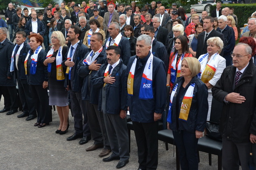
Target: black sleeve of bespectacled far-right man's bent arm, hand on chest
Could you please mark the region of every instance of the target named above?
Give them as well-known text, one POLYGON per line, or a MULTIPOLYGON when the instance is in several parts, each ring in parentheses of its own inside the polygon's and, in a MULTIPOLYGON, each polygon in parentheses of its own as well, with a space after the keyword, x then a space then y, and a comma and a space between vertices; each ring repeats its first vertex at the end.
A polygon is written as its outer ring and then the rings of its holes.
MULTIPOLYGON (((224 71, 225 70, 226 69, 224 69, 224 71)), ((211 89, 213 97, 219 102, 223 102, 225 96, 228 94, 228 92, 223 90, 224 79, 225 79, 225 75, 224 73, 222 73, 220 79, 217 81, 215 86, 211 89)))

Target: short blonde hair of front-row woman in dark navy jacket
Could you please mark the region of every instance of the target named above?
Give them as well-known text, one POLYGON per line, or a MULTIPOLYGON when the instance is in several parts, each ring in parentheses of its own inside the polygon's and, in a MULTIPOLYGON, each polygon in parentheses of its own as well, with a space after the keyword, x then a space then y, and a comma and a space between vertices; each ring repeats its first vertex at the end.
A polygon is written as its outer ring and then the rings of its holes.
POLYGON ((201 70, 201 65, 196 58, 184 57, 181 64, 183 63, 183 61, 186 61, 188 63, 188 68, 191 71, 190 77, 195 77, 196 75, 198 75, 201 70))

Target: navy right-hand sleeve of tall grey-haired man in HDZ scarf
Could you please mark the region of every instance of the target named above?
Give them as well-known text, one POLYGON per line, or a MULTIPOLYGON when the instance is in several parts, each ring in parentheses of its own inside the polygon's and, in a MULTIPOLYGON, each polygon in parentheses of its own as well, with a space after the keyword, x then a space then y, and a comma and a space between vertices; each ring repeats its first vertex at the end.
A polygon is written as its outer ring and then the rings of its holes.
POLYGON ((156 70, 155 85, 155 112, 161 113, 164 111, 164 105, 166 103, 166 73, 164 62, 159 63, 159 67, 156 70))

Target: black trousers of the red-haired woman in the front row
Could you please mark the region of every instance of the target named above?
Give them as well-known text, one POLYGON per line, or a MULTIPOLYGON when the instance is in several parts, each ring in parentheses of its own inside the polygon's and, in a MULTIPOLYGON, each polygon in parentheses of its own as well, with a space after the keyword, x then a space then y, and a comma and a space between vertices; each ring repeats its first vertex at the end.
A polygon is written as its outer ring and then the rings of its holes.
POLYGON ((49 99, 47 88, 43 89, 43 85, 30 85, 30 93, 36 106, 37 122, 49 123, 52 121, 52 116, 49 107, 49 99))

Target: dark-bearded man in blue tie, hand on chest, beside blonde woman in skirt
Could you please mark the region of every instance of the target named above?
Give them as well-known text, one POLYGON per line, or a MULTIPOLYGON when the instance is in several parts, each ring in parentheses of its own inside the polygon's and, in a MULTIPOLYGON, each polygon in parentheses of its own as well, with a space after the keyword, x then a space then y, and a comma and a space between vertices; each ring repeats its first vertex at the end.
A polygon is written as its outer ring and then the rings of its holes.
POLYGON ((83 45, 82 41, 79 41, 81 29, 78 26, 71 26, 70 29, 68 29, 67 35, 71 44, 65 56, 67 59, 62 62, 62 66, 66 68, 65 85, 67 90, 69 90, 71 110, 75 120, 75 133, 68 137, 67 141, 73 141, 83 137, 90 139, 91 133, 85 101, 82 100, 81 95, 83 78, 79 77, 77 74, 77 65, 82 60, 83 56, 89 52, 89 49, 83 45))

